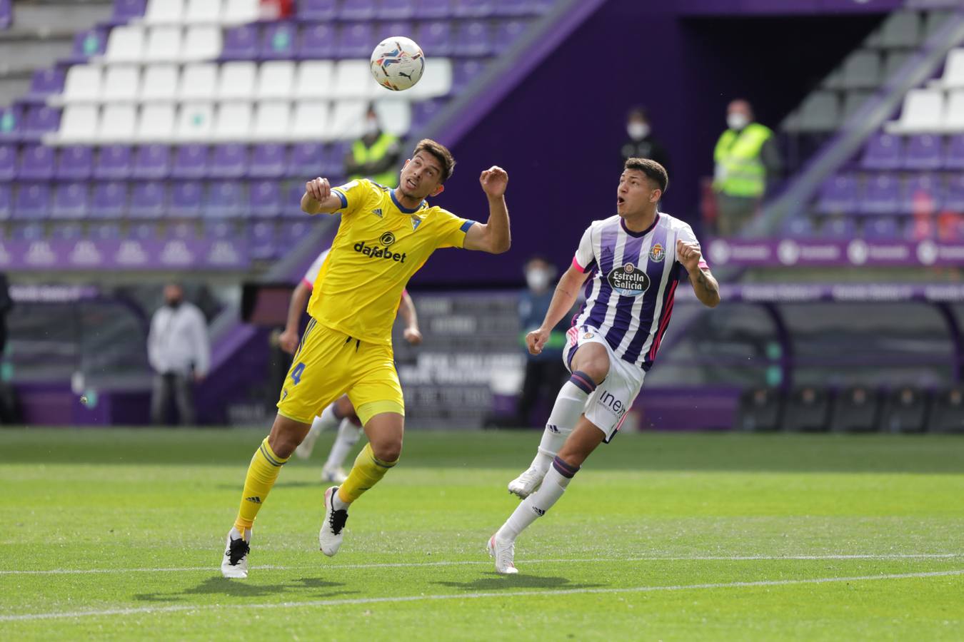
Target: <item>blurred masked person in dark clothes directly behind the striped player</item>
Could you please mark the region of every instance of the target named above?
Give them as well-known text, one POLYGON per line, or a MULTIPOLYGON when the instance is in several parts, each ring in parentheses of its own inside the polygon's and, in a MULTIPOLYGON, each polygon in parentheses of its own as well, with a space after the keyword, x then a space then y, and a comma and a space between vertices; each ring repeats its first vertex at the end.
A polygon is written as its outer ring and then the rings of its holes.
MULTIPOLYGON (((522 346, 525 334, 542 324, 552 301, 555 285, 555 266, 541 256, 533 256, 525 263, 526 289, 519 298, 519 318, 522 321, 522 346)), ((540 354, 526 350, 525 378, 516 405, 516 425, 532 425, 531 414, 541 397, 552 398, 568 376, 562 364, 562 347, 566 343, 568 319, 559 321, 551 332, 549 345, 540 354)))

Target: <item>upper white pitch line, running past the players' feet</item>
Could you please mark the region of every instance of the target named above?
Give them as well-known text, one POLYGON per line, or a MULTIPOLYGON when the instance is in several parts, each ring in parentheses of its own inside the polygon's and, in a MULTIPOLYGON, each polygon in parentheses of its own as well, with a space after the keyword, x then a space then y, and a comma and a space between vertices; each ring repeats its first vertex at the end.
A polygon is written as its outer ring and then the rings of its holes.
MULTIPOLYGON (((649 555, 642 557, 588 557, 583 559, 572 557, 559 557, 554 559, 522 559, 523 564, 558 564, 572 562, 576 564, 597 564, 603 562, 649 562, 649 561, 747 561, 747 560, 819 560, 819 559, 953 559, 964 557, 964 553, 959 552, 938 552, 938 553, 882 553, 882 554, 830 554, 830 555, 693 555, 693 556, 663 556, 649 555)), ((252 570, 259 571, 307 571, 311 569, 396 569, 396 568, 418 568, 432 566, 471 566, 477 564, 492 564, 490 561, 477 559, 464 559, 438 562, 375 562, 370 564, 306 564, 306 565, 273 565, 264 564, 252 566, 252 570)), ((217 570, 215 566, 185 566, 175 568, 138 568, 138 569, 43 569, 43 570, 14 570, 0 571, 0 576, 4 575, 88 575, 100 573, 213 573, 217 570)))

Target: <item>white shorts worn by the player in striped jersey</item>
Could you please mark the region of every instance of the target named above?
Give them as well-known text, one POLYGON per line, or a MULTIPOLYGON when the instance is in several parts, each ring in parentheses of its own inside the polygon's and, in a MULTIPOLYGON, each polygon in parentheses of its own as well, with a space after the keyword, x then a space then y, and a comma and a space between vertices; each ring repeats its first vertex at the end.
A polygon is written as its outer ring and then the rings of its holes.
POLYGON ((568 342, 566 349, 562 351, 562 360, 569 372, 573 372, 571 362, 579 346, 600 344, 605 347, 606 354, 609 355, 609 373, 603 379, 603 383, 586 399, 583 413, 586 419, 605 433, 604 441, 608 444, 626 419, 633 399, 639 394, 639 389, 643 387, 643 377, 646 376, 646 372, 617 357, 595 327, 590 325, 571 327, 566 333, 566 338, 568 342))

